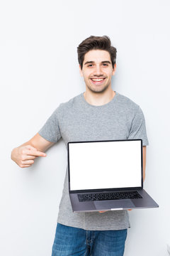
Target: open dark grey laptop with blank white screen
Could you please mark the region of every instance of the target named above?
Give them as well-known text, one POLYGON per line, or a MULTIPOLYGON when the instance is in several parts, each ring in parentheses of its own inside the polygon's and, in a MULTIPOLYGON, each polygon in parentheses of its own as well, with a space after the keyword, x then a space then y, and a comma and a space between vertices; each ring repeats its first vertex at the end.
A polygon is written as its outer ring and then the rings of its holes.
POLYGON ((143 189, 142 139, 68 142, 73 212, 157 208, 143 189))

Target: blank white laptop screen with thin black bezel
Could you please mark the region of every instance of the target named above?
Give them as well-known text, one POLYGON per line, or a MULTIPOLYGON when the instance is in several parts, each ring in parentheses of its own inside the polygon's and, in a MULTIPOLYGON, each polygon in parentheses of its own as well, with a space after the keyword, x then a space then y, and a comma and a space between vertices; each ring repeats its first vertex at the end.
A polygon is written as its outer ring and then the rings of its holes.
POLYGON ((142 140, 69 142, 70 191, 142 186, 142 140))

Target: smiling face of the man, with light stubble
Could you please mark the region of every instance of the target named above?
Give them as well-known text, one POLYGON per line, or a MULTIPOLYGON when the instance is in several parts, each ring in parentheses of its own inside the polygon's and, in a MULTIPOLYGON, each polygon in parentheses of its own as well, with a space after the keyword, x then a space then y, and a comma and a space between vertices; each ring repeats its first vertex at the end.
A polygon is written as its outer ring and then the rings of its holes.
MULTIPOLYGON (((80 67, 79 67, 80 68, 80 67)), ((80 74, 84 77, 86 89, 101 93, 111 87, 111 78, 115 74, 111 56, 106 50, 89 50, 84 55, 83 68, 80 74)))

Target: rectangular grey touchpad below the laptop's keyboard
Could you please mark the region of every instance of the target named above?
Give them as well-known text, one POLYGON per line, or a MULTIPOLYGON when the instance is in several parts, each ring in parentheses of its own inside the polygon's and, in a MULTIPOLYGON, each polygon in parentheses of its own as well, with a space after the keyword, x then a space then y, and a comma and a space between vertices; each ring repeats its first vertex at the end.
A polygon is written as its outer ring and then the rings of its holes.
POLYGON ((131 200, 94 201, 96 210, 108 210, 111 208, 133 208, 135 205, 131 200))

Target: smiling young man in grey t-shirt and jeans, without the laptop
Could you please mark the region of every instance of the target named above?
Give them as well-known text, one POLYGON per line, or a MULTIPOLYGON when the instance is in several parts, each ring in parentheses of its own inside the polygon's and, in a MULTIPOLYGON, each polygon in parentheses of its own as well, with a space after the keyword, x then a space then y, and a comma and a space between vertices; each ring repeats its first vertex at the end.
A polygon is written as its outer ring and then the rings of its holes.
MULTIPOLYGON (((145 177, 145 117, 139 105, 112 90, 115 58, 116 49, 107 36, 90 36, 79 45, 79 70, 86 91, 62 103, 35 137, 13 149, 16 164, 31 166, 61 137, 66 145, 69 141, 142 139, 145 177)), ((127 210, 72 213, 66 173, 52 256, 123 256, 128 228, 127 210)))

